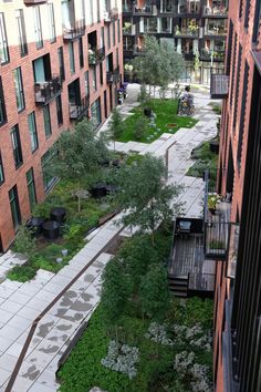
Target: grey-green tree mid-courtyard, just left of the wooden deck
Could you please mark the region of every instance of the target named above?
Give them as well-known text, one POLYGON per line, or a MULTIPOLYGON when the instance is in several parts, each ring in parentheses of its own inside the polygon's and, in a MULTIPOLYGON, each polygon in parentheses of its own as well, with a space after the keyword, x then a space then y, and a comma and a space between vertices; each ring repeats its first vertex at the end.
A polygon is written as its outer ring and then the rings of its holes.
POLYGON ((160 223, 166 224, 179 210, 180 204, 170 207, 180 186, 166 185, 166 167, 161 158, 144 155, 135 165, 124 165, 118 173, 122 189, 117 202, 125 213, 124 225, 139 226, 140 230, 150 230, 152 244, 155 245, 155 229, 160 223))

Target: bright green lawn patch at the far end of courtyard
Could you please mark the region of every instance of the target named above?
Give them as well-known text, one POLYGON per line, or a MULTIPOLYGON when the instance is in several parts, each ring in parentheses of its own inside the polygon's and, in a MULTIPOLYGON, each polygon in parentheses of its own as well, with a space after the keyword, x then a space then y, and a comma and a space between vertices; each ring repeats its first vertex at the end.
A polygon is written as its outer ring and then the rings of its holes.
POLYGON ((137 106, 132 111, 134 114, 124 121, 125 130, 121 137, 117 138, 117 142, 126 143, 129 141, 137 141, 134 135, 134 130, 136 127, 137 120, 144 116, 143 111, 145 106, 152 107, 152 110, 156 113, 156 128, 150 127, 147 124, 145 134, 140 140, 138 140, 138 142, 150 143, 158 138, 163 133, 167 132, 174 134, 180 127, 191 128, 197 123, 197 120, 192 117, 177 115, 177 100, 152 100, 149 104, 137 106), (167 124, 177 124, 177 126, 168 127, 167 124), (157 128, 160 128, 160 131, 155 135, 157 128), (149 141, 147 140, 148 136, 150 136, 149 141))

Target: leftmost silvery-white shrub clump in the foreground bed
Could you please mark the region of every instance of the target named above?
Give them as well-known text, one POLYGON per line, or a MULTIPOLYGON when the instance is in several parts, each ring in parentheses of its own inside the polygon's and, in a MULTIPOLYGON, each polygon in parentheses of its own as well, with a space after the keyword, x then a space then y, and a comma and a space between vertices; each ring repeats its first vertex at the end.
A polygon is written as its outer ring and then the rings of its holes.
POLYGON ((107 357, 103 358, 101 363, 105 368, 125 373, 133 379, 137 374, 136 363, 138 361, 138 348, 121 345, 115 340, 111 340, 107 357))

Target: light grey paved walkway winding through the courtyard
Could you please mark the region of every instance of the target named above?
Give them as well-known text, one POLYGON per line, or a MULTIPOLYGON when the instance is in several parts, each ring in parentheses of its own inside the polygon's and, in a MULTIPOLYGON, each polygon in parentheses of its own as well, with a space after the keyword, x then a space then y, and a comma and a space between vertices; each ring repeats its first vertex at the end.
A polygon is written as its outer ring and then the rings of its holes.
MULTIPOLYGON (((129 110, 136 105, 137 93, 137 86, 130 85, 129 97, 121 106, 124 115, 128 115, 129 110)), ((187 169, 194 164, 190 153, 199 143, 216 135, 217 120, 210 106, 207 106, 208 102, 209 97, 205 93, 195 94, 196 116, 200 121, 194 128, 181 128, 175 135, 163 134, 150 145, 116 143, 117 151, 137 151, 140 154, 150 152, 156 156, 164 156, 171 145, 168 182, 184 184, 180 198, 185 203, 186 216, 190 217, 200 216, 202 212, 202 180, 186 176, 187 169)), ((114 225, 117 218, 92 233, 83 249, 56 275, 39 270, 35 279, 30 282, 19 283, 6 279, 0 285, 0 391, 4 391, 7 386, 33 320, 85 268, 39 322, 12 388, 13 392, 56 391, 58 361, 100 301, 101 275, 112 257, 106 251, 106 244, 122 230, 114 225), (90 261, 93 264, 86 268, 90 261)), ((121 235, 129 236, 129 231, 125 229, 121 235)), ((10 251, 0 257, 0 277, 4 277, 13 265, 21 262, 24 259, 10 251)))

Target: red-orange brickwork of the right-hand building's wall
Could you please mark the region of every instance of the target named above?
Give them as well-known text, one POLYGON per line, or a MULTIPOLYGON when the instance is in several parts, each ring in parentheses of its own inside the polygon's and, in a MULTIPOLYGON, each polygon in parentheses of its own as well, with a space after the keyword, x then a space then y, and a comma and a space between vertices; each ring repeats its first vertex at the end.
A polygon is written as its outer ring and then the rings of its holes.
MULTIPOLYGON (((252 29, 253 29, 253 19, 254 19, 254 10, 255 3, 259 0, 252 0, 250 6, 250 16, 249 16, 249 28, 244 29, 244 7, 246 1, 243 1, 243 11, 242 18, 239 19, 239 0, 230 0, 229 1, 229 21, 233 23, 233 31, 238 35, 238 45, 237 45, 237 54, 236 61, 233 63, 233 42, 232 48, 227 48, 231 50, 231 62, 230 62, 230 89, 228 99, 223 101, 222 105, 222 121, 221 121, 221 134, 220 134, 220 145, 221 151, 219 155, 219 167, 228 168, 229 165, 229 148, 231 145, 232 151, 232 165, 234 169, 234 178, 233 178, 233 193, 232 193, 232 205, 231 205, 231 221, 236 221, 237 212, 239 215, 239 221, 241 216, 242 208, 242 196, 243 196, 243 184, 244 184, 244 167, 246 167, 246 158, 247 158, 247 147, 248 147, 248 125, 250 121, 250 111, 251 105, 251 95, 252 95, 252 79, 253 79, 253 69, 254 62, 251 54, 251 50, 253 49, 252 44, 252 29), (242 47, 242 56, 241 64, 238 69, 238 51, 239 43, 242 47), (240 114, 243 102, 243 76, 244 76, 244 64, 246 60, 249 64, 249 85, 247 92, 246 100, 246 116, 244 116, 244 127, 243 127, 243 142, 242 142, 242 153, 241 153, 241 168, 239 168, 237 163, 238 155, 238 145, 239 145, 239 126, 240 126, 240 114), (236 101, 236 85, 237 85, 237 74, 240 71, 240 81, 239 81, 239 94, 238 100, 236 101), (234 73, 234 84, 232 85, 232 74, 234 73), (230 106, 230 95, 233 93, 232 104, 230 106), (233 112, 236 110, 236 105, 238 106, 238 114, 236 126, 233 127, 233 112)), ((227 40, 228 42, 228 40, 227 40)), ((261 49, 261 40, 259 42, 258 49, 261 49)), ((228 55, 227 55, 228 56, 228 55)), ((226 171, 222 178, 222 190, 221 193, 226 193, 226 182, 227 182, 226 171)), ((217 317, 215 320, 215 340, 213 340, 213 374, 216 382, 216 391, 223 392, 223 367, 222 367, 222 331, 226 329, 226 318, 225 318, 225 301, 230 298, 229 292, 229 279, 226 279, 226 264, 222 267, 222 264, 219 262, 217 267, 217 285, 216 285, 216 298, 215 298, 215 307, 217 309, 217 317), (222 277, 221 277, 222 276, 222 277), (215 372, 216 371, 216 372, 215 372)))

